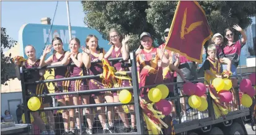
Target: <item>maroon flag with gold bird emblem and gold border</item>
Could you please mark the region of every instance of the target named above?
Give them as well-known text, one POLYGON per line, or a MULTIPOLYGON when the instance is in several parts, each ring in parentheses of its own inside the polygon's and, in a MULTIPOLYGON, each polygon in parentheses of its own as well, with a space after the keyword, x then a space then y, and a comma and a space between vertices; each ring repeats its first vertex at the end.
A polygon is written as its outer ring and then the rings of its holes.
POLYGON ((179 1, 170 26, 166 49, 202 62, 203 45, 211 38, 205 11, 196 1, 179 1))

